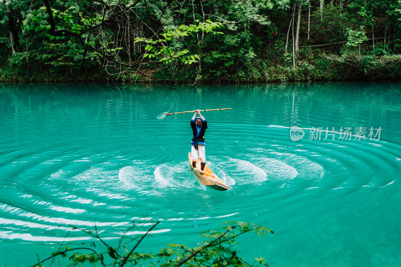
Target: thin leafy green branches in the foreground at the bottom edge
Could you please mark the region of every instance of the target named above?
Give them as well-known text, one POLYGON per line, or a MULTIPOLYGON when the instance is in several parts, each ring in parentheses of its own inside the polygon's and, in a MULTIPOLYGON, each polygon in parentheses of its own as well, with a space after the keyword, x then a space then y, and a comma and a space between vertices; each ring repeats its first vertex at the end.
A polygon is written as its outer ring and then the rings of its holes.
POLYGON ((56 257, 69 257, 72 266, 89 263, 91 266, 97 266, 99 263, 102 266, 112 265, 123 267, 126 265, 140 266, 253 266, 255 264, 263 264, 269 266, 263 257, 255 258, 254 262, 249 263, 244 258, 240 257, 238 251, 234 249, 237 244, 236 238, 247 232, 255 232, 260 236, 264 236, 267 232, 273 233, 267 227, 258 226, 252 223, 241 221, 228 221, 225 223, 224 232, 208 231, 202 234, 206 240, 200 243, 198 247, 188 247, 182 244, 168 244, 167 247, 160 249, 156 254, 139 253, 135 249, 142 242, 145 236, 151 233, 153 228, 159 222, 156 222, 149 230, 137 240, 136 244, 130 249, 127 245, 130 242, 120 242, 117 247, 108 245, 96 232, 84 230, 86 233, 101 240, 106 246, 107 251, 97 252, 89 247, 70 248, 65 246, 57 252, 33 267, 44 267, 46 261, 56 259, 56 257), (88 253, 82 253, 88 251, 88 253), (71 255, 69 253, 72 253, 71 255))

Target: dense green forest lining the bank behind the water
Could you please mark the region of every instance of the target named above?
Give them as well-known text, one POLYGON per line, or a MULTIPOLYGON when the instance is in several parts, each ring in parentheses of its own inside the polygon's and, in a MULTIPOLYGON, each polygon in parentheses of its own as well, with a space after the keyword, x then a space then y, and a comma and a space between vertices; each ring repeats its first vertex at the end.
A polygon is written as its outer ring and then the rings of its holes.
POLYGON ((1 81, 401 77, 401 0, 0 0, 1 81))

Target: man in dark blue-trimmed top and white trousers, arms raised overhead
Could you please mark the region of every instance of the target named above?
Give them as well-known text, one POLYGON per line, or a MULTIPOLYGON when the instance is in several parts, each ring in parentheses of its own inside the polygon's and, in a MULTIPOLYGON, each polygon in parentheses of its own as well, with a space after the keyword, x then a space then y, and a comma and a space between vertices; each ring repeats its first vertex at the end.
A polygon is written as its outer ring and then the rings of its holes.
POLYGON ((208 129, 208 123, 204 116, 200 115, 200 110, 195 110, 195 114, 191 119, 192 128, 192 142, 191 142, 191 154, 192 154, 192 166, 196 168, 196 160, 200 159, 200 169, 204 170, 206 165, 206 154, 205 154, 205 131, 208 129), (196 117, 196 114, 199 116, 196 117))

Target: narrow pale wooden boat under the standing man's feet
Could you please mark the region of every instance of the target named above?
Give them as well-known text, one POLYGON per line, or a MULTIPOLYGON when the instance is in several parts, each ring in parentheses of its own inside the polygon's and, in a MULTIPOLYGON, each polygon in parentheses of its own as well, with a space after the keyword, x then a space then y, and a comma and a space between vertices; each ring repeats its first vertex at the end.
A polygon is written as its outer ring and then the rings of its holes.
POLYGON ((214 173, 208 167, 208 165, 205 165, 204 171, 200 170, 199 159, 197 159, 196 161, 196 168, 193 168, 192 155, 190 152, 188 153, 188 160, 189 160, 189 169, 201 184, 212 187, 213 189, 220 191, 224 191, 230 188, 222 180, 220 180, 220 178, 216 175, 216 173, 214 173))

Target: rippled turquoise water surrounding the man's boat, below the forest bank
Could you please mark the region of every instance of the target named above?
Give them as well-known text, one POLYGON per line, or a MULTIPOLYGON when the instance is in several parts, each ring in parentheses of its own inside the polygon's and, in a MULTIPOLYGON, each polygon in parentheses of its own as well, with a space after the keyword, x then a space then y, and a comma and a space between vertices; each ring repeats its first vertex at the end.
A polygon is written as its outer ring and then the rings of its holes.
POLYGON ((0 264, 94 240, 73 226, 117 242, 159 220, 154 252, 239 220, 275 232, 240 238, 250 262, 399 266, 400 85, 0 86, 0 264), (232 108, 203 113, 228 191, 188 168, 193 113, 157 118, 197 108, 232 108))

